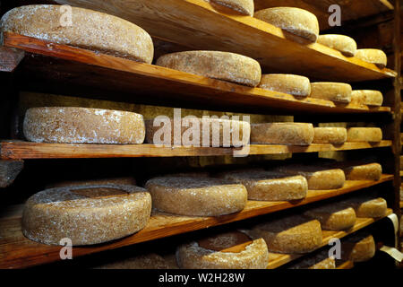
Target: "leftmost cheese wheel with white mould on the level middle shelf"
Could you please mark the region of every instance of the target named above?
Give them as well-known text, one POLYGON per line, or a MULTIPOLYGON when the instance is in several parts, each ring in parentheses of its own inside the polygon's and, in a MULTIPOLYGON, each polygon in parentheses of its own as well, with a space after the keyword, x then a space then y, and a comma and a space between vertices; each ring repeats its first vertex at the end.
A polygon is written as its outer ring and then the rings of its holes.
POLYGON ((132 112, 85 108, 31 108, 23 123, 36 143, 143 143, 144 120, 132 112))

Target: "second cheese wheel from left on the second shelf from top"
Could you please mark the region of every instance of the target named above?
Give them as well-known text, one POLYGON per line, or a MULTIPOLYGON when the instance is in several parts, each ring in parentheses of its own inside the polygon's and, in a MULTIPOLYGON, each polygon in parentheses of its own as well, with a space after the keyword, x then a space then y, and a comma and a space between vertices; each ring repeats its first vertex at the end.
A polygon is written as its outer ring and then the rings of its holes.
POLYGON ((257 61, 229 52, 177 52, 159 57, 156 65, 251 87, 256 87, 262 77, 257 61))

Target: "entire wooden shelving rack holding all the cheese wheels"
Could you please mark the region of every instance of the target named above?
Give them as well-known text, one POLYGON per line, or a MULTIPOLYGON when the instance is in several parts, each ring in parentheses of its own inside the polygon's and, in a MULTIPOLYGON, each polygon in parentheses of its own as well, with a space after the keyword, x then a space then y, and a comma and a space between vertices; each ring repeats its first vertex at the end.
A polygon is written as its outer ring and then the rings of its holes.
MULTIPOLYGON (((15 65, 18 65, 19 76, 29 82, 25 83, 26 87, 36 87, 36 84, 47 83, 49 91, 61 91, 64 87, 68 87, 69 91, 70 89, 82 91, 82 94, 77 94, 77 96, 85 96, 87 91, 96 89, 105 91, 108 100, 151 102, 167 106, 180 106, 185 101, 186 105, 188 103, 191 106, 200 105, 202 109, 225 108, 245 112, 253 110, 265 114, 273 111, 304 115, 352 114, 360 116, 373 114, 374 117, 389 115, 394 120, 393 140, 382 141, 382 143, 312 144, 305 147, 267 144, 249 146, 251 155, 391 147, 395 159, 394 174, 383 175, 379 181, 347 181, 346 185, 340 189, 311 190, 304 200, 295 203, 249 201, 242 212, 220 217, 184 217, 154 212, 145 229, 113 242, 85 248, 73 248, 73 257, 130 246, 153 239, 162 239, 229 222, 238 222, 262 214, 275 213, 345 195, 392 180, 395 195, 398 195, 400 187, 398 158, 401 149, 399 140, 401 114, 398 103, 398 100, 400 102, 399 68, 396 71, 386 68, 379 69, 376 65, 365 63, 355 57, 344 57, 338 51, 320 44, 306 44, 303 39, 296 38, 268 23, 248 16, 235 15, 230 13, 227 8, 219 8, 203 0, 138 0, 135 4, 112 0, 53 0, 47 2, 72 4, 115 14, 135 22, 155 39, 168 40, 188 49, 214 49, 253 57, 261 63, 263 70, 275 69, 282 73, 304 74, 313 79, 333 82, 395 79, 395 105, 392 109, 389 107, 370 108, 353 104, 339 105, 328 100, 298 99, 280 92, 248 88, 235 83, 186 74, 156 65, 141 64, 124 58, 49 43, 17 34, 4 34, 4 46, 6 47, 4 53, 18 53, 13 58, 16 59, 15 65), (190 15, 192 18, 189 17, 190 15), (20 55, 24 57, 20 58, 20 55), (69 76, 72 74, 73 76, 69 76), (116 97, 117 92, 120 94, 119 97, 116 97)), ((25 1, 25 3, 30 3, 30 1, 25 1)), ((397 0, 395 3, 399 8, 400 1, 397 0)), ((396 18, 399 19, 399 13, 396 13, 396 18)), ((399 31, 398 28, 396 30, 399 31)), ((397 60, 396 67, 400 66, 399 61, 397 60)), ((233 148, 157 147, 152 144, 27 143, 9 139, 0 142, 0 160, 5 161, 219 156, 232 155, 235 151, 236 149, 233 148)), ((389 213, 399 214, 401 207, 399 202, 395 200, 390 203, 390 207, 393 207, 393 210, 389 210, 389 213)), ((22 235, 21 209, 22 206, 15 206, 9 212, 0 212, 0 268, 29 267, 59 260, 60 247, 39 244, 22 235)), ((358 219, 351 230, 337 232, 324 230, 322 246, 327 245, 330 238, 343 238, 376 221, 358 219)), ((268 268, 285 265, 297 257, 300 256, 270 254, 268 268)), ((351 262, 339 265, 340 269, 351 267, 351 262)))

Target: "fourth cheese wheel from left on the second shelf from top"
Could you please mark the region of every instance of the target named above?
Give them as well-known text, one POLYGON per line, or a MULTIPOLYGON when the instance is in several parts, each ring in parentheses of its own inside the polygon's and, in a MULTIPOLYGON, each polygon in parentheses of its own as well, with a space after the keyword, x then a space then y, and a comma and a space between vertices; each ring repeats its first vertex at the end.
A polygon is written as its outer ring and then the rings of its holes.
POLYGON ((351 101, 351 85, 348 83, 311 83, 311 98, 349 103, 351 101))

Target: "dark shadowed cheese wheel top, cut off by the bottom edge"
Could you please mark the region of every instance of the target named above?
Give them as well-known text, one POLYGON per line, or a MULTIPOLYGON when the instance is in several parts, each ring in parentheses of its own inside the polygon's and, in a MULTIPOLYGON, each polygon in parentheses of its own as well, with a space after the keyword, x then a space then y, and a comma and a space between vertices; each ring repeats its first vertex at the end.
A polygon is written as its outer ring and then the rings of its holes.
POLYGON ((164 257, 156 253, 116 260, 94 269, 171 269, 164 257))

